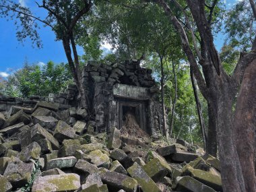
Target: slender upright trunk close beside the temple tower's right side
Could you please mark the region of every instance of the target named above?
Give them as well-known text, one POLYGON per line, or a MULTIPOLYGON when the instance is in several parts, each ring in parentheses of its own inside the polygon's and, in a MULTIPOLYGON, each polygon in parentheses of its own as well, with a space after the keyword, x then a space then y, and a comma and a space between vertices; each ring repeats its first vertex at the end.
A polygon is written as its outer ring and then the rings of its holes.
POLYGON ((161 64, 161 102, 162 102, 162 132, 163 135, 166 136, 166 115, 165 115, 165 105, 164 105, 164 63, 162 61, 162 57, 160 57, 161 64))

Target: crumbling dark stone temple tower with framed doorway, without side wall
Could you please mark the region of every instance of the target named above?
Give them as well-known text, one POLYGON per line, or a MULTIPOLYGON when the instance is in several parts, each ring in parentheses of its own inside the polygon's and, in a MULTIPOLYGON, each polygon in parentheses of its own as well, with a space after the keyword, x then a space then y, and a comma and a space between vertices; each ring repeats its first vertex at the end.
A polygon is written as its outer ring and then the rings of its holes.
POLYGON ((156 100, 158 88, 152 70, 141 68, 139 61, 113 65, 89 62, 82 77, 98 132, 111 127, 121 129, 127 113, 131 113, 149 135, 161 130, 162 114, 156 100))

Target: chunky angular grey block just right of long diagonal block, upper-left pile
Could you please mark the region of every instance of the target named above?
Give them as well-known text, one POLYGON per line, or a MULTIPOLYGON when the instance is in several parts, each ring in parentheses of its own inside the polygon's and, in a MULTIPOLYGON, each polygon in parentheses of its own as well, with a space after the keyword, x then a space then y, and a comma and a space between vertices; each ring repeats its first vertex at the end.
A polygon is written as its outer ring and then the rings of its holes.
POLYGON ((62 142, 64 139, 73 139, 75 137, 75 130, 67 125, 67 123, 60 120, 55 127, 53 136, 59 142, 62 142))

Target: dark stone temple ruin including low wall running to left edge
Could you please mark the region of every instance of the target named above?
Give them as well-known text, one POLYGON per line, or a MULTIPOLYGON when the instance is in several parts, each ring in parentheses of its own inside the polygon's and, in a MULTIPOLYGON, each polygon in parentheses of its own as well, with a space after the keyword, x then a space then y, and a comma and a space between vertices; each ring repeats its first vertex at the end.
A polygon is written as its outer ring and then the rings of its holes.
MULTIPOLYGON (((0 96, 0 111, 9 111, 11 106, 34 108, 38 101, 54 102, 63 110, 70 123, 72 117, 90 121, 94 131, 121 129, 127 117, 132 117, 137 127, 155 135, 162 132, 162 109, 157 100, 158 88, 152 78, 152 70, 142 68, 139 61, 125 61, 103 65, 88 62, 82 71, 82 80, 89 100, 90 118, 79 104, 76 86, 67 86, 64 92, 49 94, 49 97, 31 96, 5 98, 0 96), (69 110, 69 115, 66 111, 69 110)), ((12 115, 15 111, 9 113, 12 115)))

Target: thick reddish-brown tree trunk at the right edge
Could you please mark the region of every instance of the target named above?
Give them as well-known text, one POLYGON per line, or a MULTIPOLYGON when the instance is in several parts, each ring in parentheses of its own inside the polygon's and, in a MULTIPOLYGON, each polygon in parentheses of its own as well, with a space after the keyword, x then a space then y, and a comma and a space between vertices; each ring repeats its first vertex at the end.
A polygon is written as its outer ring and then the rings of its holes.
POLYGON ((245 70, 234 115, 234 141, 243 170, 246 191, 256 191, 256 60, 245 70))

